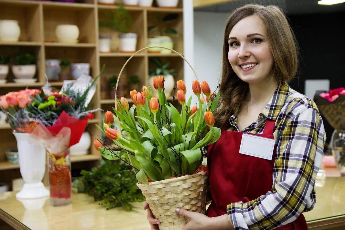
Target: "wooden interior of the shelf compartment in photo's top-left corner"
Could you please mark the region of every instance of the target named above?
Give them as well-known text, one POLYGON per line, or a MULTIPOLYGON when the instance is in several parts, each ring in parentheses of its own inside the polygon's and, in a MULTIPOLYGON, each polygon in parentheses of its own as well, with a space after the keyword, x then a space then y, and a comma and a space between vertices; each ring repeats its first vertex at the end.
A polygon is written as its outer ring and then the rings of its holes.
POLYGON ((16 20, 20 27, 19 41, 41 42, 40 7, 38 4, 1 3, 1 19, 16 20))

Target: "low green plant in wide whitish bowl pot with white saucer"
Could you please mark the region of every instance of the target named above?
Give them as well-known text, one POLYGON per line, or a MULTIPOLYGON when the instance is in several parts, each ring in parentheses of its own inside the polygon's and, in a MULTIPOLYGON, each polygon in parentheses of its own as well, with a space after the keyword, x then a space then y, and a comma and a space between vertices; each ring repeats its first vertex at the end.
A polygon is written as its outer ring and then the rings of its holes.
MULTIPOLYGON (((15 82, 23 82, 32 80, 36 73, 36 55, 30 53, 18 53, 14 57, 14 65, 12 72, 15 82), (29 79, 29 80, 28 80, 29 79)), ((34 79, 36 81, 36 79, 34 79)))

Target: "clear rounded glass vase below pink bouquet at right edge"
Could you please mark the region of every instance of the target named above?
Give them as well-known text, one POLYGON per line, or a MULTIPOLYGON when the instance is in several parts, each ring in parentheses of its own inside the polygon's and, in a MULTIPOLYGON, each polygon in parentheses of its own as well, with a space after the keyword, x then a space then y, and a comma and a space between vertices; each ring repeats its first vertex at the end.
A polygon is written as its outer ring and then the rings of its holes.
POLYGON ((345 176, 345 130, 333 131, 331 150, 341 175, 345 176))

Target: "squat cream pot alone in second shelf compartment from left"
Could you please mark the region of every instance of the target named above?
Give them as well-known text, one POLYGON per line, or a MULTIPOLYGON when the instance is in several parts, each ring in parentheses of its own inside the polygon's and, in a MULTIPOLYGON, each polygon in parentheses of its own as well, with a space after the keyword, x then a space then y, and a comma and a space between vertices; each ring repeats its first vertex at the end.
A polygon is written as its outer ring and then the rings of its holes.
POLYGON ((77 43, 79 38, 79 28, 77 25, 57 25, 55 28, 55 35, 58 42, 77 43))

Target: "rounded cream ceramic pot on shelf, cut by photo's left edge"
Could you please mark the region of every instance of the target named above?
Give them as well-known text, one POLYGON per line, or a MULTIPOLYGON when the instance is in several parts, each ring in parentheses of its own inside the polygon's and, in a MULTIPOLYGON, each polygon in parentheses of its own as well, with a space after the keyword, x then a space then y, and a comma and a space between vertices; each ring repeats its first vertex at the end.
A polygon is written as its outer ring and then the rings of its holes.
POLYGON ((19 40, 20 27, 16 20, 0 20, 0 41, 16 42, 19 40))

